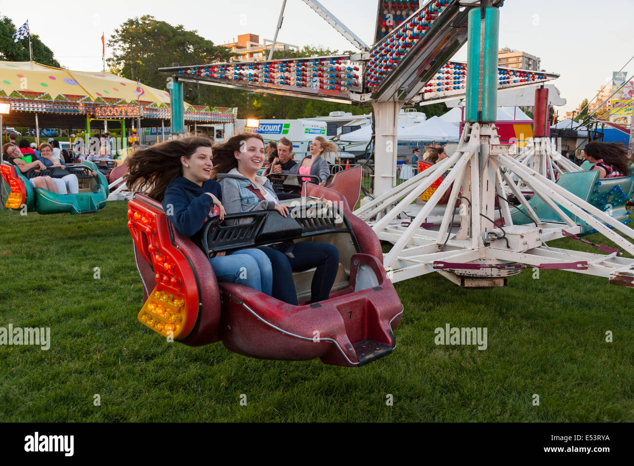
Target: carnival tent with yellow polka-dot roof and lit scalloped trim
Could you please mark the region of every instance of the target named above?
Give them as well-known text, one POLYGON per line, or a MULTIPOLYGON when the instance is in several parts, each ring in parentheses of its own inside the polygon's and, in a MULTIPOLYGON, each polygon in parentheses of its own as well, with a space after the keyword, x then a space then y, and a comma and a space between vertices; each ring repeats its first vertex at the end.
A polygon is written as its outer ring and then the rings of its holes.
MULTIPOLYGON (((0 102, 10 103, 4 124, 89 129, 91 120, 137 119, 158 127, 170 119, 167 91, 108 72, 83 72, 41 65, 35 61, 0 61, 0 102)), ((224 124, 235 120, 235 108, 184 103, 184 120, 224 124)), ((100 122, 96 122, 100 126, 100 122)))

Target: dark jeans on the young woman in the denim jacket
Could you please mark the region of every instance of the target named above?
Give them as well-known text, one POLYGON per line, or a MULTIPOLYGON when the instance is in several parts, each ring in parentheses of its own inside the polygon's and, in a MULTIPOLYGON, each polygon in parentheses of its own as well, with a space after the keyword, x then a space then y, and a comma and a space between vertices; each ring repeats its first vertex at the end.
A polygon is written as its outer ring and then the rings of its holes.
POLYGON ((336 247, 319 242, 295 243, 290 250, 294 257, 288 257, 276 248, 286 250, 285 245, 260 248, 271 260, 274 298, 297 306, 293 272, 316 267, 311 283, 311 303, 328 299, 339 269, 339 250, 336 247))

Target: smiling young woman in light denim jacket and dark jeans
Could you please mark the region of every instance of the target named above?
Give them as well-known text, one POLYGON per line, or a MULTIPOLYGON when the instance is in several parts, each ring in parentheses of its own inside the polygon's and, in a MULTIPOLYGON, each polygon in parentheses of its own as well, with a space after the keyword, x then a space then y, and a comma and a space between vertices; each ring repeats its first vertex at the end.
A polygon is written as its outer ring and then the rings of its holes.
MULTIPOLYGON (((288 208, 280 204, 271 181, 257 174, 264 162, 264 139, 260 134, 236 134, 225 143, 214 146, 214 153, 214 174, 223 188, 229 214, 277 210, 284 217, 288 215, 288 208)), ((293 272, 316 267, 311 303, 328 299, 339 268, 339 250, 332 244, 285 242, 260 249, 271 259, 273 266, 273 297, 297 306, 293 272)))

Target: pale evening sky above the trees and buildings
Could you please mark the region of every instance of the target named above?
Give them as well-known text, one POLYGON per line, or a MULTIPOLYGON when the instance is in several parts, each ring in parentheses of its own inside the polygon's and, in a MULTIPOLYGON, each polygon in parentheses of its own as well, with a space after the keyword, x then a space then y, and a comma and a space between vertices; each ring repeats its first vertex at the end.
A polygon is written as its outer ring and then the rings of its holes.
MULTIPOLYGON (((250 32, 273 39, 282 0, 207 0, 174 2, 140 0, 125 3, 29 0, 3 2, 0 15, 16 27, 29 20, 30 29, 46 43, 60 63, 73 70, 101 70, 101 32, 106 39, 127 18, 153 15, 217 44, 250 32), (28 8, 25 8, 28 7, 28 8)), ((377 0, 321 0, 333 15, 371 44, 377 0)), ((507 0, 501 8, 500 47, 526 51, 541 58, 541 67, 561 75, 559 87, 573 110, 592 98, 634 55, 634 0, 507 0)), ((302 0, 287 0, 278 41, 303 46, 352 49, 349 42, 302 0)), ((108 48, 106 48, 108 56, 108 48)), ((465 48, 456 55, 464 60, 465 48)), ((634 75, 634 60, 625 68, 634 75)))

